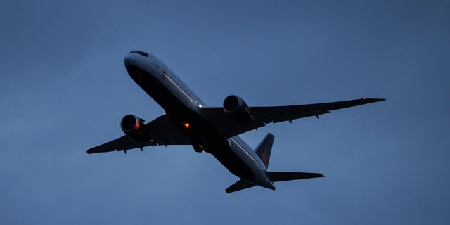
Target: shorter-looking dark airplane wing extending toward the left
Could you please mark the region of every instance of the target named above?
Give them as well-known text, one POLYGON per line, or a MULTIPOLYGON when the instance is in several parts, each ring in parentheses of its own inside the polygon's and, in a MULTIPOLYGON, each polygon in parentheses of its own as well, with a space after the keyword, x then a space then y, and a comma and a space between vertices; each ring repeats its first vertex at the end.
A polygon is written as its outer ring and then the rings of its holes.
POLYGON ((152 134, 152 139, 145 142, 138 142, 130 139, 128 136, 124 135, 113 141, 103 143, 100 146, 94 148, 89 148, 87 153, 105 153, 114 150, 127 150, 133 148, 143 148, 146 146, 161 146, 161 145, 191 145, 191 139, 188 139, 181 131, 176 129, 174 125, 169 121, 169 118, 162 115, 155 120, 146 124, 146 129, 152 134))

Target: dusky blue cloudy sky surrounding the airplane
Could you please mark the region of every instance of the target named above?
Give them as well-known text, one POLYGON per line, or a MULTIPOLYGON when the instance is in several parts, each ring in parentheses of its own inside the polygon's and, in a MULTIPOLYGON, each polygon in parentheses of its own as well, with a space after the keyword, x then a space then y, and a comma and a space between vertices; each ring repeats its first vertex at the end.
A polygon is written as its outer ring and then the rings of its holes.
POLYGON ((1 224, 449 224, 449 1, 0 4, 1 224), (208 105, 387 98, 270 124, 269 169, 326 177, 227 195, 191 146, 87 155, 163 113, 123 57, 150 51, 208 105))

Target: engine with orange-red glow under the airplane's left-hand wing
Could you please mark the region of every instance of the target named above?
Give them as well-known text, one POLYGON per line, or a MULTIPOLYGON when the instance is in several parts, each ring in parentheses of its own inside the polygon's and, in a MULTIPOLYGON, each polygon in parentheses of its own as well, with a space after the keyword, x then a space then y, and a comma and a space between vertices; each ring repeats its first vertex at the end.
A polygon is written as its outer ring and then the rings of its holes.
POLYGON ((134 141, 148 141, 150 139, 144 120, 135 115, 124 116, 120 122, 120 128, 134 141))

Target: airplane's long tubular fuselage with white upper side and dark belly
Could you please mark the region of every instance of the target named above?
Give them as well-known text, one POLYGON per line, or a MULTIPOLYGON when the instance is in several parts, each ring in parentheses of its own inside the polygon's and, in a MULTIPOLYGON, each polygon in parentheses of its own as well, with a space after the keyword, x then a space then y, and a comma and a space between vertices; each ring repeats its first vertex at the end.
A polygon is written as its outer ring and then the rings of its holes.
POLYGON ((131 51, 124 58, 130 77, 164 108, 169 120, 191 139, 196 151, 204 150, 226 169, 252 184, 274 189, 267 169, 254 150, 239 136, 226 138, 205 120, 205 103, 165 63, 150 53, 131 51))

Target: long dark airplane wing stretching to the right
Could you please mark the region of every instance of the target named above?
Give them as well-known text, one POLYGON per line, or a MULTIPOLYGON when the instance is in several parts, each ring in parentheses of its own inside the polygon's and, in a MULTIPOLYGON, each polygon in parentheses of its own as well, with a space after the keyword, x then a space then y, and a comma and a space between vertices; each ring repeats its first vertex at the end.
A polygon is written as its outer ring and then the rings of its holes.
POLYGON ((349 108, 356 105, 364 105, 374 103, 377 101, 384 101, 383 98, 361 98, 349 101, 336 101, 331 103, 316 103, 307 105, 286 105, 286 106, 269 106, 269 107, 250 107, 252 113, 251 122, 239 122, 233 117, 226 115, 223 108, 202 108, 201 112, 207 120, 214 124, 222 135, 226 137, 243 134, 252 129, 264 127, 268 123, 276 123, 289 121, 293 122, 295 119, 303 117, 315 116, 330 113, 332 110, 341 108, 349 108))

